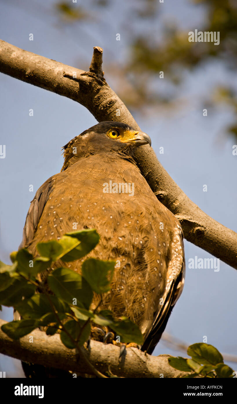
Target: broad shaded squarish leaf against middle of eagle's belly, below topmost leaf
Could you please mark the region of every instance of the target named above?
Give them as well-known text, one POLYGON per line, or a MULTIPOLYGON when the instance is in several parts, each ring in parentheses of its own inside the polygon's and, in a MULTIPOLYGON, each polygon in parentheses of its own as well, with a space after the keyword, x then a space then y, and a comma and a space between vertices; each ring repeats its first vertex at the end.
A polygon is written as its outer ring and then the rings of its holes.
POLYGON ((101 261, 94 258, 89 258, 83 262, 82 275, 94 292, 100 294, 110 290, 114 265, 114 261, 101 261))

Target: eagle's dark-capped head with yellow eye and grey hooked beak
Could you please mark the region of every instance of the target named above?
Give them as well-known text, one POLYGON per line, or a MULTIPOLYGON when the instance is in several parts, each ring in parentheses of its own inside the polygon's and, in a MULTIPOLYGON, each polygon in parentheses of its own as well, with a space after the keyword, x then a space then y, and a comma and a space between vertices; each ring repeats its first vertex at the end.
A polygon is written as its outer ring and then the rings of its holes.
POLYGON ((114 152, 120 156, 132 157, 134 147, 147 144, 151 145, 150 137, 127 124, 115 121, 100 122, 84 130, 63 147, 62 171, 80 157, 114 152))

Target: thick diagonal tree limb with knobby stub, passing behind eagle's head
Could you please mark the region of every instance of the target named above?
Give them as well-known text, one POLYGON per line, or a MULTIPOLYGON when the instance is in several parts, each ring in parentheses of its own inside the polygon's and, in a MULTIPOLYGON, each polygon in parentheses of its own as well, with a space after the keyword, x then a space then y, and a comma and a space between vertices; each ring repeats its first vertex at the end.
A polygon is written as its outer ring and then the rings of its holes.
MULTIPOLYGON (((83 72, 0 40, 0 72, 79 102, 99 122, 116 120, 139 129, 104 80, 101 65, 99 47, 94 48, 90 71, 83 72)), ((184 194, 152 148, 138 148, 135 158, 154 194, 181 222, 185 238, 237 269, 237 234, 206 215, 184 194)))

